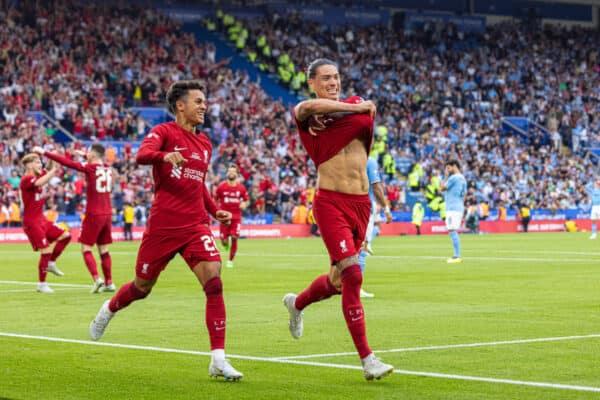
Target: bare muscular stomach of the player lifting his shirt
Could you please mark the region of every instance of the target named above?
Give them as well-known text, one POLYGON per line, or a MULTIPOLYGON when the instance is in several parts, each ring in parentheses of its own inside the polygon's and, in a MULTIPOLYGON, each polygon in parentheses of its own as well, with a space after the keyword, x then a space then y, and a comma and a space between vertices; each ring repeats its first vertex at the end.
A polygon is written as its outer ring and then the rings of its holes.
POLYGON ((367 194, 367 157, 365 144, 354 139, 318 168, 317 187, 347 194, 367 194))

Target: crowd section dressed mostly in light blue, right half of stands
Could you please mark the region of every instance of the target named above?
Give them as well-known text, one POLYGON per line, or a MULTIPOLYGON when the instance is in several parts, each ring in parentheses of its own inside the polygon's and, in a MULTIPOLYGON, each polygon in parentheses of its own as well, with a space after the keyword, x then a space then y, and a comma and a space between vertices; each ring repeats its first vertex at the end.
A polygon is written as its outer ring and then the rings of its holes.
MULTIPOLYGON (((218 25, 223 31, 230 30, 226 22, 218 25)), ((374 153, 389 180, 407 159, 401 175, 419 163, 423 187, 440 175, 447 154, 457 154, 473 203, 511 206, 525 197, 536 208, 557 209, 589 202, 582 185, 594 165, 583 149, 600 141, 597 31, 515 23, 484 35, 433 24, 338 28, 278 14, 239 23, 248 30, 246 51, 273 66, 282 84, 297 90, 282 63, 289 60, 304 80, 301 69, 327 57, 340 63, 347 96, 375 99, 374 153), (540 129, 524 140, 503 135, 502 115, 527 117, 540 129)))

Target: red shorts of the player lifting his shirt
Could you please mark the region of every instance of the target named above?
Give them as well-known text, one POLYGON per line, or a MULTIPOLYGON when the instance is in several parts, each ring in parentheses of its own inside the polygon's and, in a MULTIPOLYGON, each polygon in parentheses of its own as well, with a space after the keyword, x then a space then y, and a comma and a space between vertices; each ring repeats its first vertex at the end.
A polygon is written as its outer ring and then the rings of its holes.
POLYGON ((313 212, 332 265, 360 252, 371 215, 368 194, 319 189, 313 212))

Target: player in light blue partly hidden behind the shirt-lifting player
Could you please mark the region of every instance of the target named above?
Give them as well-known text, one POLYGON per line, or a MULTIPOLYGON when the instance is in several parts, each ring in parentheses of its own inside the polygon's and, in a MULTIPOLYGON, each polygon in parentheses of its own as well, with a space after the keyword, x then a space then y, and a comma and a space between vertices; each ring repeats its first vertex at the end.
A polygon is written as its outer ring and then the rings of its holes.
MULTIPOLYGON (((375 223, 380 222, 381 209, 384 210, 386 223, 392 221, 392 213, 385 201, 385 194, 383 192, 383 183, 381 183, 381 176, 379 175, 379 166, 377 161, 371 157, 367 160, 367 176, 369 178, 369 198, 371 199, 371 217, 369 218, 369 225, 367 226, 367 232, 365 234, 365 242, 360 251, 358 257, 358 264, 360 270, 365 274, 365 262, 367 258, 367 252, 372 254, 371 243, 379 232, 379 226, 375 226, 375 223)), ((360 297, 375 297, 373 293, 365 292, 362 288, 360 289, 360 297)))

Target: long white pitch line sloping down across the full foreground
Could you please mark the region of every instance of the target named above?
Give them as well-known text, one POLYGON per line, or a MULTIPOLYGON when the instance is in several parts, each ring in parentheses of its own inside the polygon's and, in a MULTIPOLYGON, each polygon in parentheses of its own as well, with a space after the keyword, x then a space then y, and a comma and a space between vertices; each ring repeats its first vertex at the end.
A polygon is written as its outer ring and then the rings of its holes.
MULTIPOLYGON (((17 334, 17 333, 9 333, 9 332, 0 332, 0 336, 21 338, 21 339, 46 340, 46 341, 51 341, 51 342, 75 343, 75 344, 84 344, 84 345, 92 345, 92 346, 117 347, 117 348, 134 349, 134 350, 149 350, 149 351, 158 351, 158 352, 163 352, 163 353, 179 353, 179 354, 210 356, 210 353, 202 352, 202 351, 170 349, 170 348, 165 348, 165 347, 154 347, 154 346, 138 346, 138 345, 120 344, 120 343, 92 342, 89 340, 63 339, 63 338, 56 338, 56 337, 49 337, 49 336, 23 335, 23 334, 17 334)), ((232 359, 235 358, 235 359, 241 359, 241 360, 262 361, 262 362, 280 363, 280 364, 308 365, 308 366, 312 366, 312 367, 353 369, 353 370, 361 370, 362 369, 361 367, 359 367, 357 365, 319 363, 319 362, 299 361, 299 360, 285 360, 285 359, 279 359, 279 358, 254 357, 254 356, 243 356, 243 355, 233 355, 233 354, 228 354, 227 357, 232 358, 232 359)), ((530 382, 530 381, 520 381, 520 380, 513 380, 513 379, 499 379, 499 378, 486 378, 486 377, 469 376, 469 375, 443 374, 443 373, 437 373, 437 372, 409 371, 409 370, 403 370, 403 369, 396 369, 396 370, 394 370, 394 373, 401 374, 401 375, 427 376, 427 377, 442 378, 442 379, 456 379, 456 380, 462 380, 462 381, 501 383, 501 384, 507 384, 507 385, 532 386, 532 387, 563 389, 563 390, 573 390, 573 391, 583 391, 583 392, 600 392, 600 387, 566 385, 566 384, 561 384, 561 383, 530 382)))

